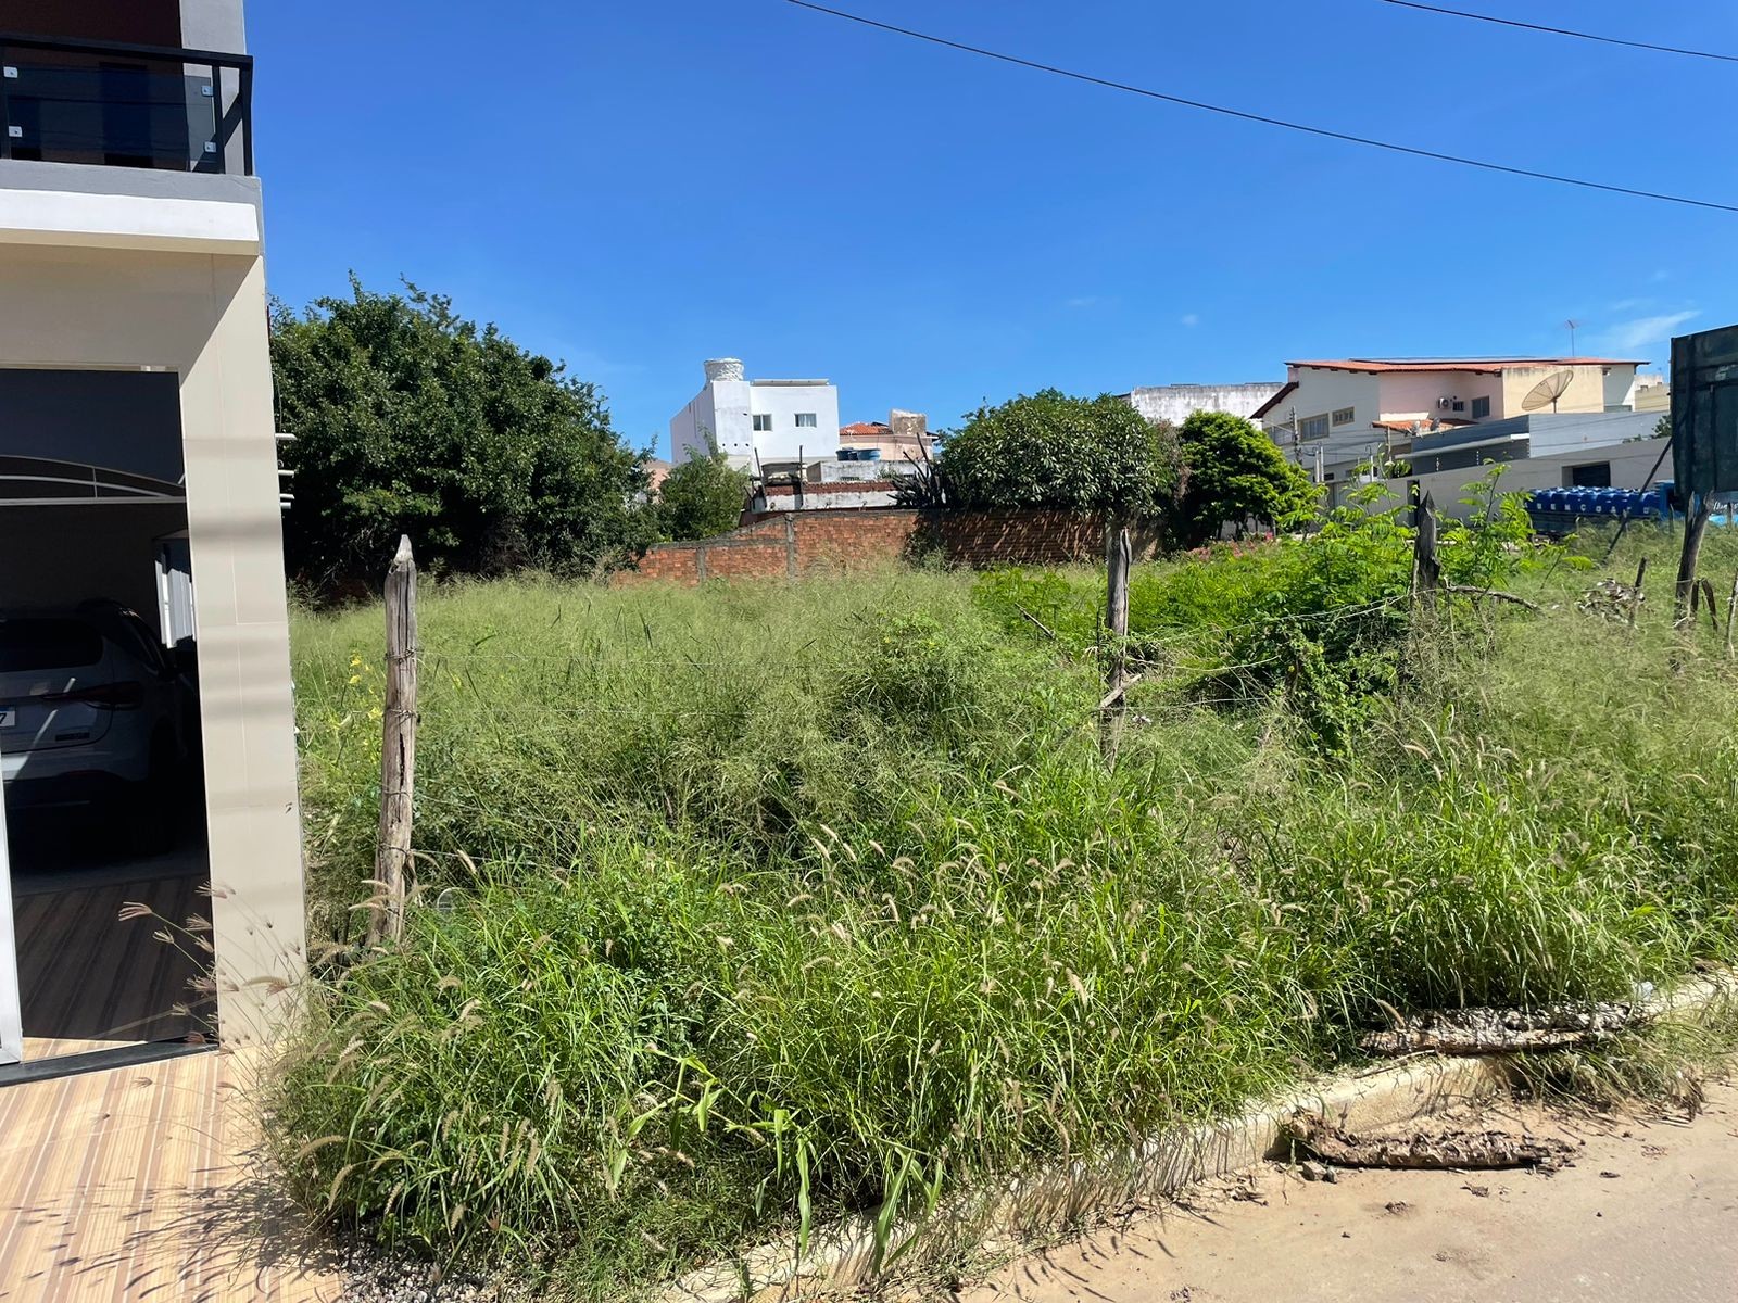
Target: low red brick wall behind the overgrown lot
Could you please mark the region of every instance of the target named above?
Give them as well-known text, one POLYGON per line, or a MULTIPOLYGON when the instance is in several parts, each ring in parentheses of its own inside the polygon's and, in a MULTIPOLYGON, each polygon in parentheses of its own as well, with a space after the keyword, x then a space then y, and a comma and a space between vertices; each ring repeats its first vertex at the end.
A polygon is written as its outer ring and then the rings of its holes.
MULTIPOLYGON (((1137 530, 1135 554, 1151 554, 1154 542, 1137 530)), ((619 582, 794 579, 933 552, 978 568, 1095 561, 1104 554, 1104 523, 1065 511, 786 511, 716 539, 659 544, 619 582)))

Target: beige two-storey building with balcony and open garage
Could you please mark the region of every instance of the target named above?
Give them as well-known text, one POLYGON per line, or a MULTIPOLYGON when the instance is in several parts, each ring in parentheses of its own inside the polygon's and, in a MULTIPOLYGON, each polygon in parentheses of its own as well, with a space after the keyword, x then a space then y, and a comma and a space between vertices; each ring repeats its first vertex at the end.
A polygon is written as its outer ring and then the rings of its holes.
POLYGON ((0 1077, 247 1039, 304 945, 242 5, 3 9, 0 1077))

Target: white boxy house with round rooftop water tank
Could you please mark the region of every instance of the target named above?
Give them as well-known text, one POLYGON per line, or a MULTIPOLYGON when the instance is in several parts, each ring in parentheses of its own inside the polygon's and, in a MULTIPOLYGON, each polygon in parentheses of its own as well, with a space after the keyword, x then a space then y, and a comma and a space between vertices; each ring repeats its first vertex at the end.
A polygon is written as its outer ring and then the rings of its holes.
POLYGON ((733 464, 794 462, 839 450, 839 391, 827 380, 749 380, 735 358, 706 363, 706 387, 669 420, 671 462, 713 448, 733 464))

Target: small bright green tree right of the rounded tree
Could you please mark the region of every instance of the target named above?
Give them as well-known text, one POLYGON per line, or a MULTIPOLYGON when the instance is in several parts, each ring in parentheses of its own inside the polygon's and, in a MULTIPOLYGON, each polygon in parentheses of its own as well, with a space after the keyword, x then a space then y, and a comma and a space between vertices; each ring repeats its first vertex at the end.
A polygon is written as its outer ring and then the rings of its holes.
POLYGON ((1182 426, 1184 492, 1177 535, 1189 546, 1217 539, 1225 525, 1283 526, 1316 506, 1316 485, 1267 434, 1229 412, 1194 412, 1182 426))

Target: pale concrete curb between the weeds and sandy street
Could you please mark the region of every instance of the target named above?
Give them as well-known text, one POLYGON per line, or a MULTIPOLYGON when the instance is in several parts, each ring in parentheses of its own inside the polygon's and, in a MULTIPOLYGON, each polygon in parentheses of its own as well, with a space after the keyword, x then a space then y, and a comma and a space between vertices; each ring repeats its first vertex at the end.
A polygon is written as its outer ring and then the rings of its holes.
MULTIPOLYGON (((1731 976, 1681 983, 1646 1001, 1653 1018, 1707 1013, 1738 995, 1731 976)), ((890 1235, 888 1258, 919 1244, 921 1256, 959 1254, 987 1240, 1018 1244, 1071 1225, 1095 1209, 1168 1199, 1196 1181, 1284 1157, 1281 1129, 1298 1112, 1317 1112, 1349 1131, 1430 1117, 1455 1103, 1509 1091, 1502 1056, 1418 1058, 1356 1075, 1330 1077, 1281 1100, 1210 1126, 1154 1136, 1095 1162, 1034 1167, 999 1185, 965 1192, 919 1223, 890 1235)), ((859 1289, 878 1275, 874 1223, 867 1214, 817 1227, 808 1253, 789 1235, 735 1260, 704 1267, 659 1291, 660 1303, 780 1303, 810 1294, 859 1289)))

